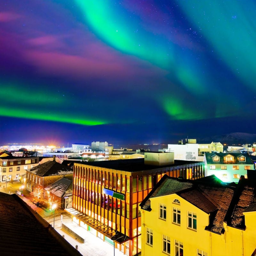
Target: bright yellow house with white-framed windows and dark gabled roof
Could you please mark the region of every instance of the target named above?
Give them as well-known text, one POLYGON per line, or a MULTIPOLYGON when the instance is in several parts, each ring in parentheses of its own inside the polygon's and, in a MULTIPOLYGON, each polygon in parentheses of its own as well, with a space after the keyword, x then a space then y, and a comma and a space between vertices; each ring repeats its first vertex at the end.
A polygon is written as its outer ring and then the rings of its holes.
POLYGON ((165 175, 140 204, 141 255, 255 255, 255 184, 165 175))

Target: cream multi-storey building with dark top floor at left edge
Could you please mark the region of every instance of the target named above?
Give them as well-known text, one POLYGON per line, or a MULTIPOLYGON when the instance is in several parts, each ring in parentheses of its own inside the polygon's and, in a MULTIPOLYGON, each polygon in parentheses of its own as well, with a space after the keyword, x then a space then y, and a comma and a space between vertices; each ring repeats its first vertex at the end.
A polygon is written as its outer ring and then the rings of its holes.
POLYGON ((28 170, 37 166, 39 157, 0 156, 0 182, 19 180, 28 170))

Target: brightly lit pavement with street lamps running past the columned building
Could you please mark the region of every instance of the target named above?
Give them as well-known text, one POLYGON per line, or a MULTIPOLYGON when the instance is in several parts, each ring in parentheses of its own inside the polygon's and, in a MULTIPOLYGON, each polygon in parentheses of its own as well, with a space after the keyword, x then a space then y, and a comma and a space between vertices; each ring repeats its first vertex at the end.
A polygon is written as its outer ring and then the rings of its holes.
MULTIPOLYGON (((17 191, 20 190, 21 184, 20 182, 13 182, 3 183, 0 187, 0 192, 4 192, 7 194, 15 194, 17 191)), ((17 194, 17 193, 16 193, 17 194)), ((55 214, 48 211, 44 207, 36 207, 36 204, 31 202, 31 198, 29 198, 29 193, 25 189, 23 190, 23 198, 21 195, 18 195, 20 198, 23 199, 34 211, 36 211, 39 215, 41 215, 49 224, 52 226, 54 225, 55 230, 68 241, 74 248, 78 247, 78 251, 84 255, 90 256, 124 256, 123 252, 120 252, 118 248, 115 249, 113 245, 108 244, 107 242, 103 242, 99 237, 94 236, 91 232, 85 230, 83 227, 77 225, 75 222, 72 221, 71 215, 64 210, 56 209, 55 214), (77 240, 74 236, 69 234, 63 228, 61 228, 61 215, 62 215, 62 223, 68 226, 77 234, 82 234, 83 238, 85 238, 85 242, 82 243, 77 240), (54 223, 53 223, 54 222, 54 223)), ((118 245, 119 246, 119 245, 118 245)))

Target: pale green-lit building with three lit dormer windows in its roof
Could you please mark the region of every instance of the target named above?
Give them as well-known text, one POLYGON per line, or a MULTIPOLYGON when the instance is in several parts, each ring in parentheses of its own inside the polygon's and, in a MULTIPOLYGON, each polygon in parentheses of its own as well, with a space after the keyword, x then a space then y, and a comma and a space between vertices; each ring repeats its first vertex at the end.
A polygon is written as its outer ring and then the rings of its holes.
POLYGON ((247 153, 205 153, 205 176, 214 174, 223 182, 238 182, 255 165, 247 153))

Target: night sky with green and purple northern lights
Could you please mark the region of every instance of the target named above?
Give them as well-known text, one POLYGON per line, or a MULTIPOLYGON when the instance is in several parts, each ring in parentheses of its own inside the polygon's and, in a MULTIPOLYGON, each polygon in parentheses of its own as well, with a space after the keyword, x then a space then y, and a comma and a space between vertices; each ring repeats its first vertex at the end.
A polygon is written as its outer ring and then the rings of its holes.
POLYGON ((3 0, 0 144, 256 133, 255 17, 252 0, 3 0))

